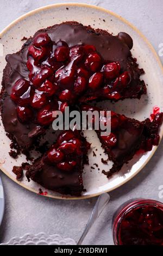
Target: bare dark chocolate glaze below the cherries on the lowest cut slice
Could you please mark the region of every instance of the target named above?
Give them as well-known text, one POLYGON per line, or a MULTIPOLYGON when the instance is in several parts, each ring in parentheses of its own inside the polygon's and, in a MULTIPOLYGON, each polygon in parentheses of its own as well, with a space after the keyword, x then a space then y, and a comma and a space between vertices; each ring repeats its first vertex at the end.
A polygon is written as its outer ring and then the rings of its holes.
POLYGON ((71 172, 61 171, 56 166, 45 163, 43 159, 37 160, 34 165, 29 166, 26 176, 47 189, 62 194, 80 195, 83 191, 82 157, 78 159, 76 169, 71 172))

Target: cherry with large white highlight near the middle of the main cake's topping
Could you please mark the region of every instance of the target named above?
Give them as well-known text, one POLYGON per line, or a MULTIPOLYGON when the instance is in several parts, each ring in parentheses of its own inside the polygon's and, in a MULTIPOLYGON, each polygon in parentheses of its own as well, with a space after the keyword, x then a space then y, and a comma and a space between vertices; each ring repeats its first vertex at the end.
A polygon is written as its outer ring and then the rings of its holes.
POLYGON ((55 72, 55 78, 60 84, 64 86, 69 86, 73 84, 74 75, 75 67, 71 62, 66 67, 61 67, 55 72))

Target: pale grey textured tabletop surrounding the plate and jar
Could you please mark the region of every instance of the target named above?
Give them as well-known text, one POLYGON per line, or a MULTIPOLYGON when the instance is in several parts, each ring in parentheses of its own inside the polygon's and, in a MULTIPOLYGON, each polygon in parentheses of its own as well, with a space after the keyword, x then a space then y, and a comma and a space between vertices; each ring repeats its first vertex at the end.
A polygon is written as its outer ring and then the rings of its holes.
MULTIPOLYGON (((22 14, 43 5, 61 2, 54 0, 1 0, 0 30, 22 14)), ((163 43, 162 0, 101 0, 81 1, 97 4, 123 16, 141 30, 158 52, 163 43)), ((161 58, 163 63, 163 57, 161 58)), ((0 145, 1 147, 1 145, 0 145)), ((163 185, 161 142, 154 157, 131 181, 110 193, 111 201, 95 227, 84 240, 85 245, 112 245, 111 221, 118 206, 131 198, 159 198, 159 187, 163 185)), ((5 215, 0 229, 0 242, 25 233, 58 233, 78 240, 90 215, 96 198, 66 201, 41 197, 18 186, 1 172, 5 193, 5 215)), ((163 193, 162 193, 163 194, 163 193)))

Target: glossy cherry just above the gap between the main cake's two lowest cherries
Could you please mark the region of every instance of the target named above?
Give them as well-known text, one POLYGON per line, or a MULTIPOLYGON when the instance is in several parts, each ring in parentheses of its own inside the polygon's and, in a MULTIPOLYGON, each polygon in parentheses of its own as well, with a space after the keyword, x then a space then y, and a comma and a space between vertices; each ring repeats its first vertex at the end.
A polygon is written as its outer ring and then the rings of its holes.
POLYGON ((43 105, 45 105, 47 103, 47 98, 45 93, 42 93, 40 91, 35 91, 35 94, 33 96, 33 100, 31 103, 31 106, 34 109, 41 109, 43 105))

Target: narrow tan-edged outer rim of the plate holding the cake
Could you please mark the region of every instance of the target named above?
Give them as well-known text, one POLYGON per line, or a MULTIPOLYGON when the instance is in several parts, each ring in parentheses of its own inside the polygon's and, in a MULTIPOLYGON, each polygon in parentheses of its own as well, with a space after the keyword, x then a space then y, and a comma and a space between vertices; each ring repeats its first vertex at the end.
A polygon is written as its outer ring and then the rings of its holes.
MULTIPOLYGON (((15 19, 14 21, 12 21, 11 23, 9 23, 9 25, 7 27, 5 27, 1 32, 0 32, 0 37, 3 37, 3 35, 9 31, 9 29, 11 27, 14 27, 14 25, 16 25, 16 23, 20 22, 21 20, 25 19, 27 16, 32 16, 35 13, 39 13, 40 11, 43 10, 47 10, 47 9, 52 9, 52 8, 58 8, 58 7, 62 7, 62 6, 66 6, 66 7, 71 7, 71 6, 76 6, 76 7, 86 7, 86 8, 91 8, 91 9, 96 9, 105 13, 108 13, 112 16, 115 16, 117 19, 121 20, 123 23, 126 23, 129 27, 131 27, 137 34, 140 35, 140 37, 143 39, 143 41, 145 41, 145 43, 147 44, 147 46, 149 47, 149 49, 153 52, 154 57, 156 59, 156 61, 158 62, 160 69, 162 70, 162 74, 163 74, 163 66, 162 63, 160 61, 160 58, 158 56, 158 54, 156 53, 154 47, 152 46, 152 44, 148 41, 148 39, 145 37, 145 35, 142 34, 142 32, 136 28, 132 23, 130 23, 128 20, 124 19, 122 16, 114 13, 113 11, 110 11, 108 9, 105 9, 103 7, 99 7, 96 5, 92 5, 92 4, 86 4, 86 3, 57 3, 57 4, 49 4, 49 5, 45 5, 43 7, 34 9, 32 11, 29 11, 26 14, 21 15, 20 17, 18 17, 17 19, 15 19)), ((163 126, 160 129, 160 142, 163 136, 163 126)), ((159 144, 160 144, 159 142, 159 144)), ((159 146, 159 145, 158 145, 159 146)), ((123 184, 127 183, 128 181, 130 181, 133 177, 135 177, 145 166, 146 164, 149 162, 149 160, 153 157, 156 149, 158 148, 158 146, 154 146, 153 150, 151 152, 151 154, 148 156, 148 158, 145 160, 145 162, 140 166, 140 168, 138 168, 133 175, 131 175, 130 177, 126 178, 126 180, 120 182, 119 184, 117 184, 116 186, 106 189, 103 192, 98 192, 98 193, 94 193, 91 195, 82 195, 81 197, 70 197, 70 196, 66 196, 66 195, 43 195, 44 197, 49 197, 49 198, 54 198, 54 199, 64 199, 64 200, 80 200, 80 199, 88 199, 88 198, 93 198, 93 197, 97 197, 98 195, 102 194, 102 193, 108 193, 111 192, 112 190, 115 190, 118 187, 123 186, 123 184)), ((19 184, 21 187, 28 189, 31 192, 34 192, 36 194, 37 191, 33 188, 30 188, 28 186, 26 186, 25 184, 22 184, 21 182, 17 181, 16 178, 12 177, 1 165, 0 165, 0 169, 4 172, 5 175, 7 175, 12 181, 16 182, 17 184, 19 184)), ((4 211, 3 211, 4 213, 4 211)), ((3 219, 3 216, 2 216, 3 219)), ((1 219, 0 219, 0 225, 1 225, 1 219)))

